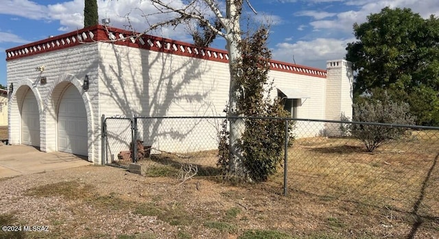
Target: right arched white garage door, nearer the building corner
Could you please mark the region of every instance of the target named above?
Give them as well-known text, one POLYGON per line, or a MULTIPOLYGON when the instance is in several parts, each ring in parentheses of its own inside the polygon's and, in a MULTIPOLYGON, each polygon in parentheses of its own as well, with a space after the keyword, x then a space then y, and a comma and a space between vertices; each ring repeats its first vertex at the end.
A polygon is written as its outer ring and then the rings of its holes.
POLYGON ((58 151, 87 155, 87 114, 80 92, 69 86, 58 108, 58 151))

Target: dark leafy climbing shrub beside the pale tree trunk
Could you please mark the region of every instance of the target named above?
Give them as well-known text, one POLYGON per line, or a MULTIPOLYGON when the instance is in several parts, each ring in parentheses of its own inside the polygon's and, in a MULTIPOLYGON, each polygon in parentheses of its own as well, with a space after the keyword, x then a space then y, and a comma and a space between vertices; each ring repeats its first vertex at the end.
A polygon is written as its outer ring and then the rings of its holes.
MULTIPOLYGON (((268 31, 261 27, 252 36, 244 38, 240 44, 244 58, 235 64, 237 84, 241 86, 237 98, 237 110, 245 116, 287 117, 281 101, 270 100, 272 84, 268 82, 271 58, 267 47, 268 31), (269 88, 264 97, 265 88, 269 88)), ((227 112, 228 110, 226 110, 227 112)), ((230 119, 233 120, 233 119, 230 119)), ((228 132, 223 124, 219 143, 219 165, 224 173, 230 173, 228 132)), ((291 140, 289 141, 291 142, 291 140)), ((238 142, 242 155, 242 165, 246 178, 250 181, 265 181, 276 173, 283 162, 285 144, 285 121, 249 118, 245 121, 244 134, 238 142)))

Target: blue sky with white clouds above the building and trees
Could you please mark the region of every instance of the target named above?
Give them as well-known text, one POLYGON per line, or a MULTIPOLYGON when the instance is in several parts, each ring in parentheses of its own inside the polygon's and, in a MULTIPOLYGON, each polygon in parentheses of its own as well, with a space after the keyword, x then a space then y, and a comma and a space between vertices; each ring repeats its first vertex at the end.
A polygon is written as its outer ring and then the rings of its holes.
MULTIPOLYGON (((184 4, 185 0, 172 1, 184 4)), ((97 0, 99 19, 110 18, 113 27, 125 28, 127 16, 137 32, 147 29, 142 14, 156 12, 148 0, 97 0)), ((220 6, 224 0, 219 0, 220 6)), ((244 1, 245 2, 245 1, 244 1)), ((390 8, 412 8, 424 18, 439 16, 437 0, 250 0, 244 10, 254 21, 269 21, 273 59, 325 68, 327 60, 342 59, 347 42, 353 37, 353 23, 363 23, 366 16, 390 8)), ((1 0, 0 3, 0 84, 6 84, 5 49, 74 31, 83 27, 84 0, 1 0)), ((160 21, 154 15, 148 21, 160 21)), ((187 27, 164 28, 152 33, 176 40, 191 41, 187 27)), ((225 41, 212 47, 224 49, 225 41)))

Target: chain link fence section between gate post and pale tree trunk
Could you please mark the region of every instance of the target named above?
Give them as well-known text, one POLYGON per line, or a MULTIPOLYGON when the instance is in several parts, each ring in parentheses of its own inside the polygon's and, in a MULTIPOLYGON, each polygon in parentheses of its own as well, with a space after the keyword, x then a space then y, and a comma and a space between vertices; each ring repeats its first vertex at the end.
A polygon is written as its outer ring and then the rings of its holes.
POLYGON ((220 177, 217 167, 222 118, 137 118, 137 161, 149 176, 220 177), (142 150, 140 151, 139 150, 142 150))

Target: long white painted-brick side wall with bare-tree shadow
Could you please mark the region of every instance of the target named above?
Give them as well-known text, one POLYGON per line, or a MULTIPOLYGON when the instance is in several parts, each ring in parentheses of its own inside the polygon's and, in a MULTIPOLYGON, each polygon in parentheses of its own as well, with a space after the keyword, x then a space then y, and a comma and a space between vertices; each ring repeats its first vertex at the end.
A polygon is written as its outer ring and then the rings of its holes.
MULTIPOLYGON (((298 118, 325 119, 326 79, 270 71, 276 88, 293 88, 307 95, 298 107, 298 118)), ((99 43, 99 105, 106 116, 224 116, 230 77, 228 64, 145 49, 99 43), (108 90, 108 91, 106 91, 108 90)), ((128 151, 128 121, 108 121, 112 152, 128 151), (114 149, 117 149, 115 151, 114 149)), ((156 149, 187 152, 215 149, 217 121, 139 120, 139 138, 156 149), (213 136, 213 137, 212 137, 213 136), (198 143, 197 143, 198 142, 198 143)), ((322 123, 298 123, 296 136, 316 136, 322 123)), ((108 149, 111 150, 111 149, 108 149)))

